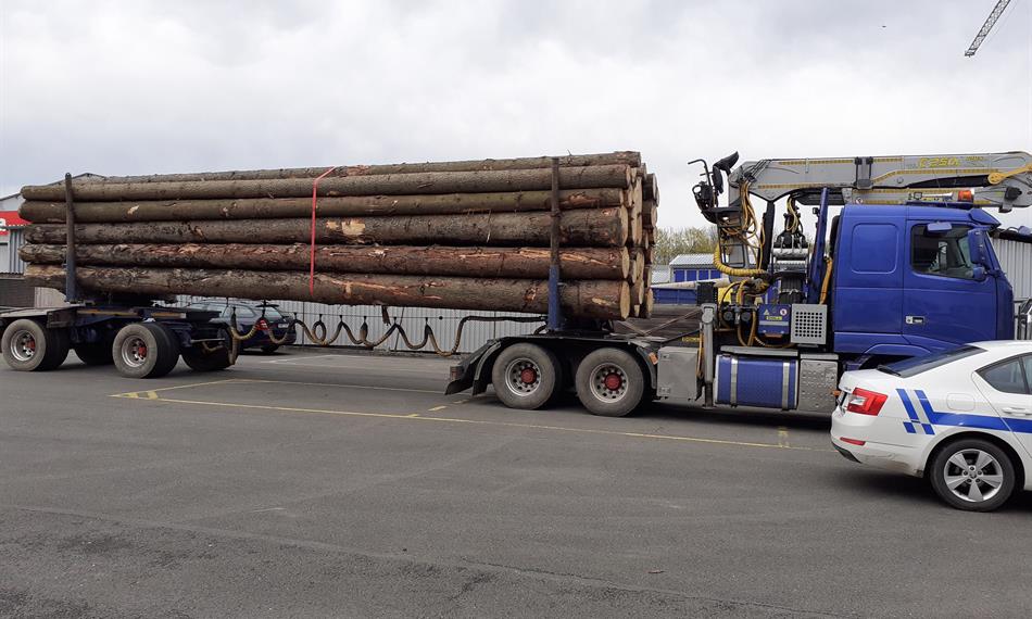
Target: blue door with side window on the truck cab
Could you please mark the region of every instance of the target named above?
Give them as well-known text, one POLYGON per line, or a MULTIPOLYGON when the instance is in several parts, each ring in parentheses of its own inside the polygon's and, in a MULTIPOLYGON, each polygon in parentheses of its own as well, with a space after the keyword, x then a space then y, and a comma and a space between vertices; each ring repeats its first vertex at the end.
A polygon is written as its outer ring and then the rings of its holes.
POLYGON ((903 334, 930 351, 996 338, 996 281, 971 262, 972 226, 910 222, 903 334))

